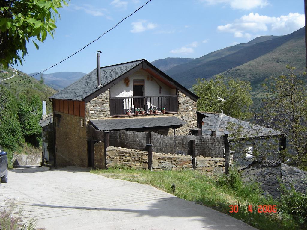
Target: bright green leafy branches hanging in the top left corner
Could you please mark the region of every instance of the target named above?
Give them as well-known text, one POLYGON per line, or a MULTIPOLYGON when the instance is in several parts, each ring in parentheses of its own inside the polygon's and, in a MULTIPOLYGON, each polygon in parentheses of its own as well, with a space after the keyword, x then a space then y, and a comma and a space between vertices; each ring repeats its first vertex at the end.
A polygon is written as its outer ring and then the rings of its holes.
POLYGON ((28 54, 26 44, 32 40, 43 42, 47 33, 52 37, 57 11, 67 5, 66 0, 1 0, 0 1, 0 64, 22 64, 28 54), (35 39, 30 39, 31 37, 35 39), (21 52, 18 53, 18 51, 21 52))

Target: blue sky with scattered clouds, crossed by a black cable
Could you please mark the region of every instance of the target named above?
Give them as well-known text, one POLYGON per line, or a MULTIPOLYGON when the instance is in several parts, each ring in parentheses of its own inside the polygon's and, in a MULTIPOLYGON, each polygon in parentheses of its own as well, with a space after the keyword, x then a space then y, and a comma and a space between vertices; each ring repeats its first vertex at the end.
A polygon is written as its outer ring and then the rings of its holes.
MULTIPOLYGON (((71 0, 59 10, 54 39, 28 44, 25 73, 40 72, 98 38, 147 0, 71 0)), ((45 73, 88 73, 136 59, 198 58, 262 35, 285 35, 304 26, 303 0, 152 0, 83 51, 45 73)))

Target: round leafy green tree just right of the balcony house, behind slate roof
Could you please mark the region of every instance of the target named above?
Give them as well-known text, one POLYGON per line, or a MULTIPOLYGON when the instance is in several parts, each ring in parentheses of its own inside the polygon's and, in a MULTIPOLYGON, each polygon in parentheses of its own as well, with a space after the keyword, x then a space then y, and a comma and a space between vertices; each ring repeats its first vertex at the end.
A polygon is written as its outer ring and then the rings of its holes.
POLYGON ((238 119, 251 117, 249 107, 253 101, 250 95, 250 82, 216 76, 211 80, 197 79, 192 88, 200 97, 197 101, 197 109, 200 111, 220 113, 223 109, 223 113, 231 117, 238 119), (218 97, 226 101, 219 101, 218 97))

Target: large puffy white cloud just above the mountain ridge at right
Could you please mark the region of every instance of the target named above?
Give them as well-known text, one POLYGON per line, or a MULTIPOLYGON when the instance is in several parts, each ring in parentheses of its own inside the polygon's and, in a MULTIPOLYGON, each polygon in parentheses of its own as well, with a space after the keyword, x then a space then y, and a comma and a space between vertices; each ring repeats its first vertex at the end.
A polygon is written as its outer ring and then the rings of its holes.
MULTIPOLYGON (((233 33, 234 37, 251 38, 251 33, 270 32, 271 34, 288 34, 305 25, 304 14, 289 13, 280 17, 270 17, 250 13, 236 19, 233 23, 219 25, 221 32, 233 33)), ((255 35, 254 35, 255 36, 255 35)))

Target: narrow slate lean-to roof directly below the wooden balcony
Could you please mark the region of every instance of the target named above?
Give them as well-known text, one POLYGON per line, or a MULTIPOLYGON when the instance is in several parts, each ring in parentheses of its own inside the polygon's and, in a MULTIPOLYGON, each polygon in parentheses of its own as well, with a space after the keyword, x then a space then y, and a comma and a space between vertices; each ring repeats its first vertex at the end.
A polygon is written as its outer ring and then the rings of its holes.
MULTIPOLYGON (((125 118, 125 119, 97 119, 90 120, 93 126, 99 130, 122 130, 132 128, 150 128, 181 126, 181 119, 177 117, 150 117, 150 118, 125 118)), ((182 124, 186 124, 185 121, 182 124)))

